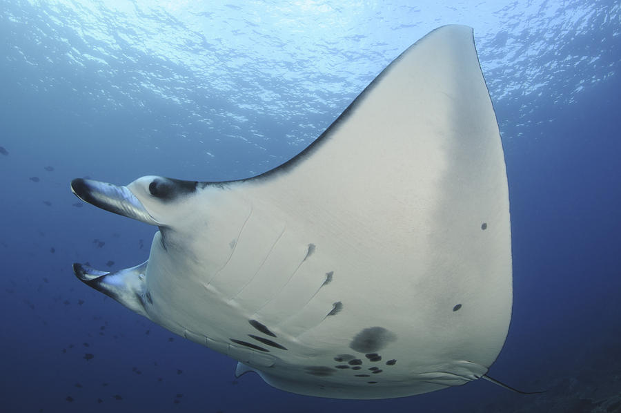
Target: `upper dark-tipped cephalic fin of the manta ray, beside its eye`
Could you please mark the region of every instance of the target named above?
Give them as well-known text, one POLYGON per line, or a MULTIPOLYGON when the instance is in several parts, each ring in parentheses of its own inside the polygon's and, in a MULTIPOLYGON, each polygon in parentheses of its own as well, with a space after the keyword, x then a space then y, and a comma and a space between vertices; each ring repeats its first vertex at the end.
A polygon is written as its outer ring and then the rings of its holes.
POLYGON ((84 202, 147 224, 158 222, 127 186, 77 178, 71 181, 71 192, 84 202))

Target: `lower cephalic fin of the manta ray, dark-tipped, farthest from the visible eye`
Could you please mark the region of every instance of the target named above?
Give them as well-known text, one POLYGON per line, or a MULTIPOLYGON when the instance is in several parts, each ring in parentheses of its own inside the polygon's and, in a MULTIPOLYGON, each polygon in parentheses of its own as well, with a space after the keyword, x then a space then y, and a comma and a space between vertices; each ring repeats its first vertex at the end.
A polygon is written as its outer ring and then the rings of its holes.
POLYGON ((128 309, 147 317, 145 305, 151 302, 144 281, 147 264, 148 260, 136 267, 106 272, 76 262, 73 265, 73 272, 84 284, 114 298, 128 309))

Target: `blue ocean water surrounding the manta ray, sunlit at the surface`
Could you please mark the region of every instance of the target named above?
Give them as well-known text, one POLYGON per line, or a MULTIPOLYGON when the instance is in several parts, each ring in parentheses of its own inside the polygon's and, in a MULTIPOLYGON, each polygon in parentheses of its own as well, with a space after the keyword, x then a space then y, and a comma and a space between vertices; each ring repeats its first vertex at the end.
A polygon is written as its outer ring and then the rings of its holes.
POLYGON ((3 412, 621 412, 618 1, 8 0, 0 18, 3 412), (70 180, 271 169, 446 23, 475 28, 509 177, 513 317, 490 375, 546 393, 288 394, 73 276, 137 265, 155 230, 70 180))

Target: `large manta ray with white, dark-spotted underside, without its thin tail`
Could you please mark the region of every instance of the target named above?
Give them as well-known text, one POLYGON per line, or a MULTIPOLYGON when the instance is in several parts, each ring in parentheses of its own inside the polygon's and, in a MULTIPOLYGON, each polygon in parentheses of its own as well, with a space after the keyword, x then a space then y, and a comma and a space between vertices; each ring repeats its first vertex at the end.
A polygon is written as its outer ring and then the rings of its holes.
POLYGON ((282 390, 409 396, 486 374, 511 319, 509 194, 472 29, 408 48, 302 153, 232 182, 77 179, 157 225, 80 280, 282 390))

